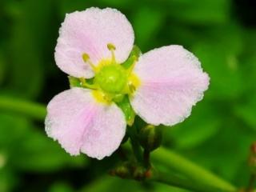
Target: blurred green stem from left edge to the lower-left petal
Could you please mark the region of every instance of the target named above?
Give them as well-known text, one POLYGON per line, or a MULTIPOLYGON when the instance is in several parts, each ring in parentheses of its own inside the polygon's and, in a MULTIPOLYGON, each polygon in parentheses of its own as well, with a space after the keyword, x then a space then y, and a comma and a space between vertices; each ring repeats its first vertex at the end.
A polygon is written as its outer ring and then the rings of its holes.
POLYGON ((0 109, 24 114, 40 121, 43 121, 46 117, 46 106, 6 96, 0 96, 0 109))

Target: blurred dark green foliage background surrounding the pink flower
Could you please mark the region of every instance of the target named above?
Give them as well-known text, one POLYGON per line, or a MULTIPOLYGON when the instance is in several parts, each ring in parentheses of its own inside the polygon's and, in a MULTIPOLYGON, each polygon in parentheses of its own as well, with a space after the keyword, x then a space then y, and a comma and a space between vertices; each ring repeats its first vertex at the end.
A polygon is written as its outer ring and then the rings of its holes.
MULTIPOLYGON (((134 26, 146 52, 180 44, 210 74, 210 89, 185 122, 166 129, 164 145, 237 186, 249 178, 256 139, 256 3, 249 0, 0 0, 0 96, 47 103, 69 88, 54 64, 65 14, 114 7, 134 26)), ((111 178, 118 158, 74 158, 46 137, 43 122, 0 108, 0 192, 184 192, 111 178)))

